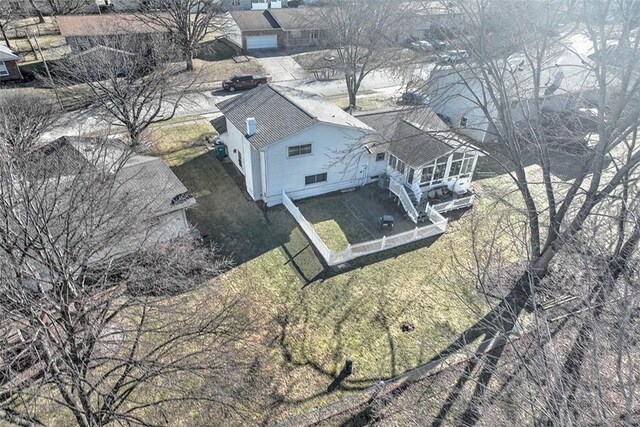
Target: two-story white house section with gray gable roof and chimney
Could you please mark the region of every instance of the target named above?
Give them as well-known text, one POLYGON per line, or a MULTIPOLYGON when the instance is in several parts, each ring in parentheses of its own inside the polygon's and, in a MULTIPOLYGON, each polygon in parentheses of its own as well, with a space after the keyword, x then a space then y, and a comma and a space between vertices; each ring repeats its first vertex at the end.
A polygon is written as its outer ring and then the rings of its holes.
POLYGON ((253 200, 267 206, 364 185, 385 169, 375 131, 317 95, 263 85, 217 104, 220 135, 253 200))

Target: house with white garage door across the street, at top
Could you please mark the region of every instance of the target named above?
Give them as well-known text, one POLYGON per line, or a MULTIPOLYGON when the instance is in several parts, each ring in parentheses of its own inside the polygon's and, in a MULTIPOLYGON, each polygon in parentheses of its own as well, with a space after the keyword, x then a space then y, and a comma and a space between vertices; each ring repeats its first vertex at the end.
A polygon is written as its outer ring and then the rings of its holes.
POLYGON ((314 8, 237 10, 229 39, 245 50, 312 47, 322 44, 323 26, 314 8))

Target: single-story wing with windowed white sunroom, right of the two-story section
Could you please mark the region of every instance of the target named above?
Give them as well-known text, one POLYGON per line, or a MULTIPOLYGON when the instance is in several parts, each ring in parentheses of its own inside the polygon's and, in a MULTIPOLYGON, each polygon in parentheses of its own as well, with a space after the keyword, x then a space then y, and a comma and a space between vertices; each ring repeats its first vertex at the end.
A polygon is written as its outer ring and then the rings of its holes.
POLYGON ((438 204, 469 193, 473 172, 484 154, 452 132, 432 110, 363 112, 356 117, 382 136, 386 173, 405 187, 419 214, 427 203, 438 210, 438 204))

